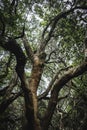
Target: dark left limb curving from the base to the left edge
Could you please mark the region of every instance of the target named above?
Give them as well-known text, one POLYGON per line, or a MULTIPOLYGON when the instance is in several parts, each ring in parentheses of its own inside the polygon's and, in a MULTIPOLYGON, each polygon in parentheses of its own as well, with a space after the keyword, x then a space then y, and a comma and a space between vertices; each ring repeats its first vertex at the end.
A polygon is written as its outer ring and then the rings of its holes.
MULTIPOLYGON (((17 61, 16 72, 17 72, 18 76, 20 77, 21 87, 24 91, 26 118, 28 121, 28 127, 30 129, 34 130, 34 121, 35 120, 34 120, 32 93, 31 93, 31 90, 28 88, 28 85, 26 83, 25 73, 24 73, 26 57, 24 55, 24 52, 22 51, 20 46, 17 44, 15 39, 9 39, 8 42, 3 42, 3 39, 2 39, 0 44, 4 49, 12 52, 16 57, 16 61, 17 61)), ((11 100, 12 100, 12 98, 11 98, 11 100)), ((4 106, 3 103, 1 104, 0 112, 1 111, 3 112, 2 108, 3 109, 7 108, 9 102, 11 102, 11 101, 10 100, 6 101, 5 107, 3 107, 4 106)))

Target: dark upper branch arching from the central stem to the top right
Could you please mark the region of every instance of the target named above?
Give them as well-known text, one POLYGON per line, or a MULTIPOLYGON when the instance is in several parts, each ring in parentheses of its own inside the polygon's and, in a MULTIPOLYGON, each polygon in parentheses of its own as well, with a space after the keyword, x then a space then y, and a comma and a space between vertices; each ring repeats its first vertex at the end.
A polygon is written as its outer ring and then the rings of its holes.
POLYGON ((48 23, 48 25, 46 26, 46 28, 44 29, 43 34, 42 34, 42 39, 43 39, 43 40, 42 40, 42 43, 41 43, 41 45, 40 45, 40 51, 41 51, 41 50, 45 50, 45 47, 46 47, 46 45, 48 44, 49 40, 51 39, 52 34, 53 34, 53 32, 54 32, 54 30, 55 30, 55 28, 56 28, 56 26, 57 26, 58 21, 59 21, 60 19, 62 19, 62 18, 66 18, 67 15, 69 15, 70 13, 74 12, 74 10, 77 10, 77 9, 86 10, 86 9, 87 9, 87 6, 76 6, 76 7, 74 7, 74 8, 71 8, 71 9, 68 10, 68 11, 61 12, 61 13, 59 13, 57 16, 55 16, 55 17, 48 23), (50 29, 50 31, 49 31, 47 37, 44 38, 44 37, 45 37, 45 32, 47 31, 47 29, 48 29, 49 27, 50 27, 51 29, 50 29))

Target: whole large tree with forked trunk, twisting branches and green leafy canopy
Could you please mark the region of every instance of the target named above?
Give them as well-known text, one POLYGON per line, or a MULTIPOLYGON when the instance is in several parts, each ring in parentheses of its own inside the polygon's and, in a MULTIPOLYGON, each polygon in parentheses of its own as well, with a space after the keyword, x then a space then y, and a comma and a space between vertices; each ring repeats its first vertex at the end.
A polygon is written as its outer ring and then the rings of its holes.
POLYGON ((68 97, 70 86, 77 85, 74 78, 87 71, 87 2, 4 0, 0 4, 0 114, 23 95, 27 121, 24 129, 48 130, 59 101, 68 97), (13 76, 3 87, 13 71, 16 78, 13 76), (75 83, 71 85, 71 81, 75 83), (66 85, 67 96, 60 97, 66 85), (47 100, 45 104, 43 99, 47 100), (46 106, 43 116, 38 114, 39 102, 46 106))

